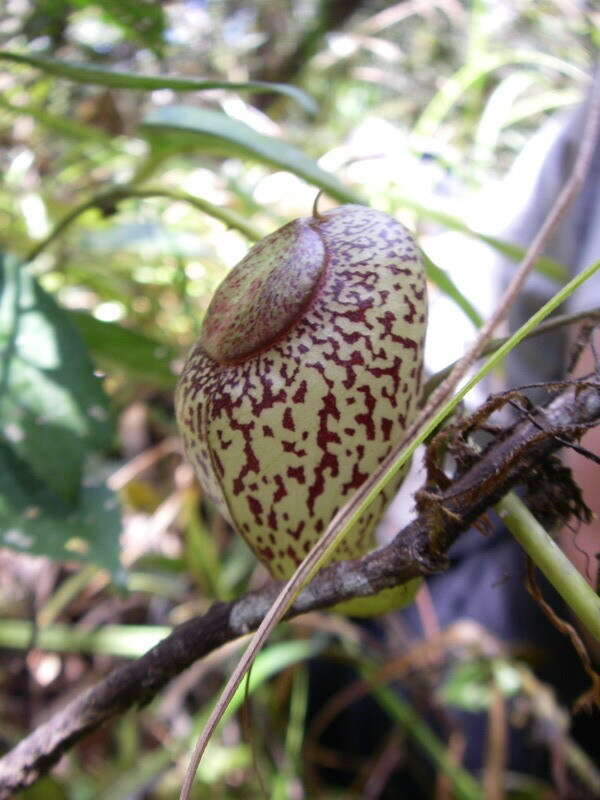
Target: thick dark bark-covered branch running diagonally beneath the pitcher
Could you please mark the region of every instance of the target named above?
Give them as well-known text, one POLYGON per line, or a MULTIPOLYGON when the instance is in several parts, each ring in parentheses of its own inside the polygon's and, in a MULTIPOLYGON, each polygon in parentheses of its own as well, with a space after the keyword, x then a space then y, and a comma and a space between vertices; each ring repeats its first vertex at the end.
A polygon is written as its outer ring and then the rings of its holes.
MULTIPOLYGON (((444 554, 461 532, 537 462, 562 447, 565 438, 579 436, 599 423, 600 384, 582 381, 570 385, 544 409, 512 426, 468 472, 441 492, 434 515, 428 511, 419 514, 386 547, 322 569, 287 616, 376 594, 443 569, 444 554)), ((239 600, 216 603, 203 616, 180 625, 140 659, 83 692, 0 760, 0 800, 33 784, 90 731, 132 706, 147 703, 194 661, 255 629, 280 589, 281 584, 273 582, 239 600)))

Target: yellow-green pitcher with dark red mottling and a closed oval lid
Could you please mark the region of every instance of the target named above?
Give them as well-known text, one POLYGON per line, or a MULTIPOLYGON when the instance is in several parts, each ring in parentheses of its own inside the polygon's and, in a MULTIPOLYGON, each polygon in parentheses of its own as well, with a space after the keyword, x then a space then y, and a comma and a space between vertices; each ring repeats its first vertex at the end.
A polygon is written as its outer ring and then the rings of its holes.
MULTIPOLYGON (((411 235, 362 206, 276 231, 217 290, 178 421, 207 495, 274 576, 293 572, 414 416, 426 302, 411 235)), ((335 558, 373 547, 401 477, 335 558)))

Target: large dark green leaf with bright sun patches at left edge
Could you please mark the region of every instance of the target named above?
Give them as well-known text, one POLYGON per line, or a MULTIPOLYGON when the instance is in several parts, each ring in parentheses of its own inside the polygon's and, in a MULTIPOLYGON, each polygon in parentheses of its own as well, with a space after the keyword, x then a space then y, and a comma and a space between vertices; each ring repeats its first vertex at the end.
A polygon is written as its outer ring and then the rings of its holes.
POLYGON ((106 396, 77 330, 15 260, 0 260, 0 441, 63 500, 106 447, 106 396))

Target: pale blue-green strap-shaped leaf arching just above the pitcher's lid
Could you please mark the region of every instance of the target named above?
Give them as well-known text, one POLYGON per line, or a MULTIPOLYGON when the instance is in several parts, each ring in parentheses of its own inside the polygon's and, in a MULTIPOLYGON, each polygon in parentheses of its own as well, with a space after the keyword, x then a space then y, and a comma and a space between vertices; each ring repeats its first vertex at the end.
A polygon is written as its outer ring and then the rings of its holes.
POLYGON ((223 156, 249 158, 287 170, 344 203, 361 203, 330 172, 287 142, 257 133, 244 122, 221 111, 192 106, 169 106, 150 112, 142 133, 167 151, 201 150, 223 156))

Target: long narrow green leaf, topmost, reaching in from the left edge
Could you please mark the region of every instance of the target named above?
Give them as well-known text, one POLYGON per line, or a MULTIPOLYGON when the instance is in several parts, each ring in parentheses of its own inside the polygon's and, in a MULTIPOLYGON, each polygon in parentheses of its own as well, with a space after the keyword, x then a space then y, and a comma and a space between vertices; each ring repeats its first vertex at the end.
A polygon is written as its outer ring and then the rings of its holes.
POLYGON ((27 64, 41 69, 48 75, 67 78, 86 85, 110 86, 113 89, 171 89, 174 92, 196 92, 206 89, 229 89, 236 92, 277 92, 295 100, 310 114, 317 112, 315 101, 295 86, 284 83, 268 83, 267 81, 223 81, 205 78, 182 78, 167 75, 136 75, 132 72, 119 72, 113 69, 97 67, 95 64, 82 64, 61 61, 57 58, 31 55, 30 53, 14 53, 9 50, 0 51, 0 60, 27 64))

